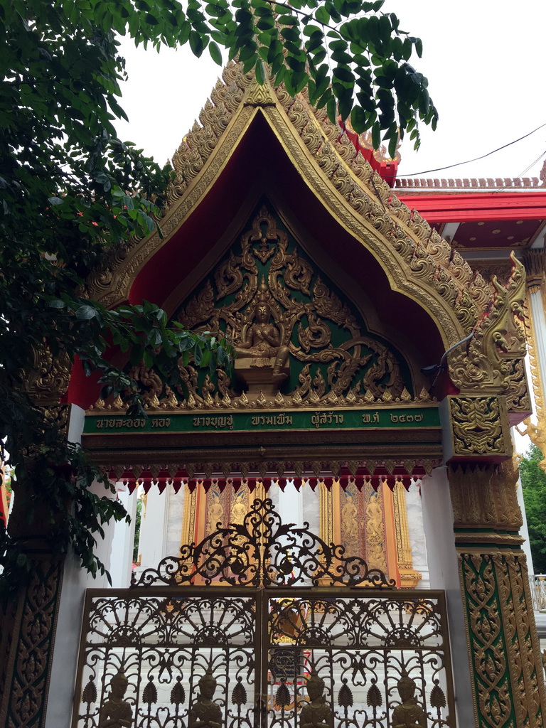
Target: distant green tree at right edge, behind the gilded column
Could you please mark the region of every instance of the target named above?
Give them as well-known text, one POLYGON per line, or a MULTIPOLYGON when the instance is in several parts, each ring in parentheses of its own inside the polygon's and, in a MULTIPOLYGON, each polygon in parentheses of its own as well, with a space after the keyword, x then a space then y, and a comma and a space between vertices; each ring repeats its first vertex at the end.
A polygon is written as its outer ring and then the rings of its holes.
POLYGON ((542 451, 531 445, 520 462, 523 502, 536 574, 546 574, 546 472, 539 467, 543 458, 542 451))

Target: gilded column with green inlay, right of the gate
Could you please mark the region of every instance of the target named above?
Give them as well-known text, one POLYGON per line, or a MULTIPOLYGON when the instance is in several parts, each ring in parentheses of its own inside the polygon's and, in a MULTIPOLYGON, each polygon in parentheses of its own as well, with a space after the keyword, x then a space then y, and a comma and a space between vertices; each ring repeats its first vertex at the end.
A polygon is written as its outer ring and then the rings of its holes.
POLYGON ((544 673, 513 462, 449 468, 476 724, 543 728, 544 673))

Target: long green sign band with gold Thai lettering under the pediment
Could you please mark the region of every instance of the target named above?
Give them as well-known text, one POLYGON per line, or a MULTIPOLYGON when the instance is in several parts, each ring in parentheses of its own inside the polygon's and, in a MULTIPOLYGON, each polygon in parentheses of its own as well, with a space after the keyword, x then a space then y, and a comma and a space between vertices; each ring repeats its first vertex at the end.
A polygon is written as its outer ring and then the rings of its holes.
POLYGON ((390 407, 281 412, 190 411, 128 418, 91 414, 84 432, 106 435, 127 432, 256 432, 274 430, 419 430, 440 427, 438 407, 390 407))

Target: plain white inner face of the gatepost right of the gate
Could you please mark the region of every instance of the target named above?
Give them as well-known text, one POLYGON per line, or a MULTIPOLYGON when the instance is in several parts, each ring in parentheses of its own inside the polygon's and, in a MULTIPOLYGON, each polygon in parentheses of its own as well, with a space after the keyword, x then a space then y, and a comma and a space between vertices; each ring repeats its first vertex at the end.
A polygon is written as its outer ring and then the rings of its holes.
POLYGON ((457 725, 470 728, 475 726, 474 700, 446 467, 422 479, 421 494, 430 588, 446 591, 457 725))

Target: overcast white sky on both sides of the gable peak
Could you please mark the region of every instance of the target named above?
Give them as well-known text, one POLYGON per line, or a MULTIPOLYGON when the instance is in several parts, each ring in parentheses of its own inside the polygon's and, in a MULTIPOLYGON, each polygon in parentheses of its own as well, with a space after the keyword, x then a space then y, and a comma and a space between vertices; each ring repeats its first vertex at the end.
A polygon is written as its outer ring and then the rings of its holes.
MULTIPOLYGON (((546 123, 546 0, 387 0, 401 28, 423 41, 416 68, 429 79, 438 130, 422 130, 419 152, 403 143, 400 175, 479 157, 546 123)), ((123 44, 129 81, 122 138, 157 162, 170 159, 210 94, 220 68, 205 51, 135 50, 123 44)), ((546 127, 487 159, 430 177, 538 176, 546 127)))

